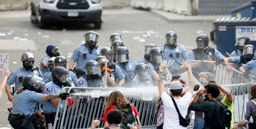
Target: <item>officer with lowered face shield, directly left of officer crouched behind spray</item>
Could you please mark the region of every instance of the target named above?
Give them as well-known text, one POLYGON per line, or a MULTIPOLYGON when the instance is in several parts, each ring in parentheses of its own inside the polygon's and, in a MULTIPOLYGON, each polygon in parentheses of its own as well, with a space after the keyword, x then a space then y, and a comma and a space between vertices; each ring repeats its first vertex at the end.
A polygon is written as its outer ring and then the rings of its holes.
POLYGON ((125 76, 125 82, 123 86, 131 87, 132 80, 135 77, 136 62, 129 60, 129 50, 121 46, 116 50, 116 65, 121 68, 123 75, 125 76))

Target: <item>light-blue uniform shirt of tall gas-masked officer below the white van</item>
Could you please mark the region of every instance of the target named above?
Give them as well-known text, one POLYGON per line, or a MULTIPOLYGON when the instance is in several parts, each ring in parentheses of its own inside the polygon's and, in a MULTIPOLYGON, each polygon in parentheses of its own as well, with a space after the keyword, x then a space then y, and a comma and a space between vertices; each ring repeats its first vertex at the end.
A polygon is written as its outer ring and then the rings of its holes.
POLYGON ((70 58, 76 62, 76 70, 86 73, 86 62, 95 60, 95 58, 99 56, 101 48, 101 46, 98 46, 97 49, 92 50, 92 53, 89 53, 89 48, 85 44, 77 46, 70 58))

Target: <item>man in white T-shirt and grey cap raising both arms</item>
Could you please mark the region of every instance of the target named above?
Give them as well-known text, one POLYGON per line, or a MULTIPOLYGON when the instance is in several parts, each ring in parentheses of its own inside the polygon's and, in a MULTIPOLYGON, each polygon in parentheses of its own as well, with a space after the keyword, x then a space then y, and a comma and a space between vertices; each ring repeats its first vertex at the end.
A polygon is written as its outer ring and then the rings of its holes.
POLYGON ((164 78, 163 71, 165 68, 168 68, 167 61, 166 60, 162 61, 159 67, 157 84, 158 84, 159 94, 161 94, 161 98, 164 104, 165 117, 164 117, 163 129, 186 129, 186 127, 183 127, 180 125, 178 112, 176 111, 176 108, 171 99, 171 96, 172 96, 177 104, 180 114, 182 115, 183 118, 185 118, 187 115, 190 100, 192 98, 192 93, 194 89, 194 80, 193 80, 193 74, 191 71, 190 63, 188 63, 187 61, 183 61, 183 65, 188 72, 189 85, 190 85, 188 87, 187 93, 183 97, 181 97, 182 85, 180 81, 173 81, 170 83, 170 94, 167 94, 165 92, 165 89, 163 86, 163 78, 164 78))

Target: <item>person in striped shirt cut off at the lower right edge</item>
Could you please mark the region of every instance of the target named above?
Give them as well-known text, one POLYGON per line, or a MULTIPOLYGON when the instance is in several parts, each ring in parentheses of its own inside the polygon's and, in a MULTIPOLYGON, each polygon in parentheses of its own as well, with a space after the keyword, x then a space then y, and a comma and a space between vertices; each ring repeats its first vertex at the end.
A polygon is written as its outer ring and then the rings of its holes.
MULTIPOLYGON (((255 83, 250 86, 250 94, 253 99, 246 103, 246 114, 244 116, 244 119, 234 124, 234 129, 237 129, 239 126, 247 124, 250 120, 250 116, 254 115, 254 111, 256 110, 256 84, 255 83)), ((254 127, 255 127, 255 124, 254 124, 254 127)), ((250 128, 250 124, 249 124, 249 129, 252 129, 250 128)))

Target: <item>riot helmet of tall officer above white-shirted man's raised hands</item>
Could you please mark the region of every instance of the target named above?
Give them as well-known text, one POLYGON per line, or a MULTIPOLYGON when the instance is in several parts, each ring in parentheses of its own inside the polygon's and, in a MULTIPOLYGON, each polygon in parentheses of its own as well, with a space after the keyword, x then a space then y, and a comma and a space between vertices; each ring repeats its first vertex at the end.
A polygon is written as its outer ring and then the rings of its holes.
POLYGON ((177 46, 177 34, 173 31, 169 31, 165 35, 166 45, 172 48, 177 46))

